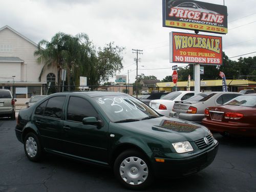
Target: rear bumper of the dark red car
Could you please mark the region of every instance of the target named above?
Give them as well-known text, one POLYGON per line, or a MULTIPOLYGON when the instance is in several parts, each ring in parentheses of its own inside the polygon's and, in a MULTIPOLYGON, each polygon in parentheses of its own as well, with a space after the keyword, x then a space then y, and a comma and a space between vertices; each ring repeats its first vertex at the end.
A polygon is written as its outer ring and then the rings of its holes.
POLYGON ((256 137, 256 127, 246 127, 246 125, 248 124, 230 124, 227 122, 212 121, 208 119, 203 119, 202 124, 212 132, 228 133, 230 135, 240 135, 247 137, 256 137))

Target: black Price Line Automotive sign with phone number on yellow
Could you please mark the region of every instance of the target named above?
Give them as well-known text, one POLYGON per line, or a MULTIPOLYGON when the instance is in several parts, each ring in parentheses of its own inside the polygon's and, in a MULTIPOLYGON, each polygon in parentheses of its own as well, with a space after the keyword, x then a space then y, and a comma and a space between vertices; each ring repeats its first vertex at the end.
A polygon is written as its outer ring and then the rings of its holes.
POLYGON ((189 1, 162 0, 163 27, 227 33, 227 7, 189 1))

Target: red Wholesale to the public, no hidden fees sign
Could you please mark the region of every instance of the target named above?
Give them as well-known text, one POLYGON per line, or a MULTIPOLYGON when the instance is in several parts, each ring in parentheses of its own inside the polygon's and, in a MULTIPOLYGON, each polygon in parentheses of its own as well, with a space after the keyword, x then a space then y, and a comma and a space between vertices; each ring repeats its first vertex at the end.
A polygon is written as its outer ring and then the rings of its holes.
POLYGON ((222 37, 169 33, 170 62, 222 65, 222 37))

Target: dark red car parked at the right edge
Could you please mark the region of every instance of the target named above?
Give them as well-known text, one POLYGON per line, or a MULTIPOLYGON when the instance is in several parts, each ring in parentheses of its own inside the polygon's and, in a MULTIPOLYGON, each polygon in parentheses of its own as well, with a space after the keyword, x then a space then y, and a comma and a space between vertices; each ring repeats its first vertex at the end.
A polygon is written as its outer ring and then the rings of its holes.
POLYGON ((240 95, 204 111, 202 124, 221 135, 256 137, 256 94, 240 95))

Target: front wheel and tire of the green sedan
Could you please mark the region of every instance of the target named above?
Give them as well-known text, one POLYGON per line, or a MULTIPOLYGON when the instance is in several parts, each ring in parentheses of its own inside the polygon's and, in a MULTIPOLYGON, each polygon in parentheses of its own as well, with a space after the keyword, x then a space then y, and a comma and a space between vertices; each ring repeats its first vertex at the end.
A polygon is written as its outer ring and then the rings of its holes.
POLYGON ((129 189, 143 189, 153 180, 147 158, 138 151, 121 153, 114 163, 114 174, 119 182, 129 189))

